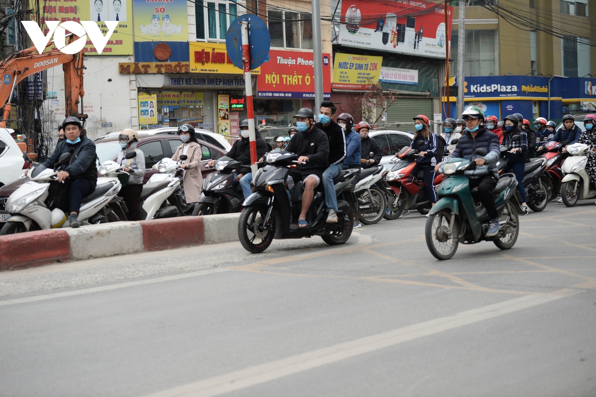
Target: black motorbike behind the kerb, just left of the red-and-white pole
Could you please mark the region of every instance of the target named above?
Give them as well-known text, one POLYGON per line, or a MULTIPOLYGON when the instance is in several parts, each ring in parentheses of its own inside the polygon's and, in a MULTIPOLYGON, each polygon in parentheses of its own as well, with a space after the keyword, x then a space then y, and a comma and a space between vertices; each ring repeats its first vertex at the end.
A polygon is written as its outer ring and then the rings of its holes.
POLYGON ((240 162, 229 157, 220 157, 215 160, 213 168, 216 172, 210 173, 203 181, 203 194, 198 199, 193 216, 213 215, 216 213, 240 212, 244 195, 239 183, 235 183, 235 170, 242 167, 240 162))

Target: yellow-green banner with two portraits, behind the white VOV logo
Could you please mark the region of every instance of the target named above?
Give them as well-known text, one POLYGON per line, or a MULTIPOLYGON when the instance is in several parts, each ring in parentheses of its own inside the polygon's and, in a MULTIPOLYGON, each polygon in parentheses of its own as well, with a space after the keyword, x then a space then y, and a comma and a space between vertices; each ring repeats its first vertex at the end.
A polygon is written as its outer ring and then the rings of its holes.
MULTIPOLYGON (((48 32, 45 21, 95 21, 103 35, 108 33, 104 21, 118 21, 101 54, 132 55, 132 0, 70 0, 68 5, 55 4, 42 6, 40 14, 43 15, 41 27, 44 34, 48 32)), ((55 48, 54 41, 46 46, 46 50, 55 48)), ((83 51, 86 55, 101 55, 89 40, 83 51)))

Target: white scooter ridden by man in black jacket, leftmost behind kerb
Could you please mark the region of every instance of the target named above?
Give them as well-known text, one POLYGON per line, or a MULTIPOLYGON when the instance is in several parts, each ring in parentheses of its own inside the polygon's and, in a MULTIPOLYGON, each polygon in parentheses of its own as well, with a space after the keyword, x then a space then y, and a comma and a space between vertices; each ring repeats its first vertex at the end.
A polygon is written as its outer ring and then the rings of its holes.
MULTIPOLYGON (((50 182, 57 179, 61 168, 66 168, 70 163, 70 153, 63 153, 54 165, 54 169, 45 168, 38 163, 29 170, 30 181, 8 197, 6 210, 10 215, 6 224, 0 230, 0 235, 15 234, 30 230, 45 230, 70 227, 68 216, 63 210, 54 208, 50 210, 45 203, 49 195, 50 182)), ((25 160, 32 163, 29 157, 25 160)), ((27 177, 25 177, 27 178, 27 177)), ((81 225, 99 224, 119 221, 108 203, 118 194, 122 184, 117 178, 104 183, 98 183, 89 196, 83 197, 77 219, 81 225)))

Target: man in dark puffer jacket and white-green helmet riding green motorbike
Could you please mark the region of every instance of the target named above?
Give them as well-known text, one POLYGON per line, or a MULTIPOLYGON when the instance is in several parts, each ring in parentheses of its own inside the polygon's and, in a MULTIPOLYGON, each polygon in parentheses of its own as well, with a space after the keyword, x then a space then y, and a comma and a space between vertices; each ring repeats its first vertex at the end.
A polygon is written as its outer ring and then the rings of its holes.
MULTIPOLYGON (((495 179, 492 168, 499 159, 499 138, 491 134, 483 122, 485 119, 482 109, 472 106, 462 113, 465 120, 465 135, 457 142, 453 153, 449 159, 464 158, 474 160, 476 169, 465 171, 465 176, 470 180, 470 189, 477 187, 479 198, 486 208, 486 212, 491 217, 486 236, 491 237, 499 232, 499 219, 496 212, 495 200, 492 197, 492 191, 495 189, 497 180, 495 179), (488 152, 486 156, 479 156, 474 153, 477 148, 485 148, 488 152)), ((439 170, 440 163, 434 168, 439 170)))

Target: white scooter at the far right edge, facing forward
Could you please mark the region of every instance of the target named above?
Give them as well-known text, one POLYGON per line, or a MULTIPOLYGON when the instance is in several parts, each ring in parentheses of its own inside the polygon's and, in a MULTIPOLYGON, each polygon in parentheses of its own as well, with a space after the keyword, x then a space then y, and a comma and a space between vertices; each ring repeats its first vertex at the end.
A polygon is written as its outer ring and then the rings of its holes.
POLYGON ((563 180, 561 181, 561 198, 567 207, 573 207, 578 200, 588 200, 596 197, 596 190, 590 190, 590 179, 586 171, 588 157, 583 152, 589 150, 589 145, 575 143, 567 146, 570 154, 561 165, 563 180))

